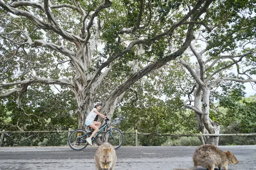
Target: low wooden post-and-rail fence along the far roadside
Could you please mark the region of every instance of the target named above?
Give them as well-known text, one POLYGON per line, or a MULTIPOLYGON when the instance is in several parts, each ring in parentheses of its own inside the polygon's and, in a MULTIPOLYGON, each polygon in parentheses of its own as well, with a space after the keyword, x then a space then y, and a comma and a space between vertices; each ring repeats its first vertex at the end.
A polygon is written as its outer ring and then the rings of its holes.
MULTIPOLYGON (((52 131, 0 131, 1 138, 0 138, 0 146, 3 142, 4 134, 9 133, 68 133, 67 136, 72 132, 72 129, 69 130, 52 130, 52 131)), ((175 133, 141 133, 138 130, 135 132, 122 132, 124 134, 135 134, 135 146, 138 146, 138 135, 154 135, 154 136, 256 136, 256 133, 232 133, 232 134, 202 134, 202 133, 188 133, 188 134, 175 134, 175 133)))

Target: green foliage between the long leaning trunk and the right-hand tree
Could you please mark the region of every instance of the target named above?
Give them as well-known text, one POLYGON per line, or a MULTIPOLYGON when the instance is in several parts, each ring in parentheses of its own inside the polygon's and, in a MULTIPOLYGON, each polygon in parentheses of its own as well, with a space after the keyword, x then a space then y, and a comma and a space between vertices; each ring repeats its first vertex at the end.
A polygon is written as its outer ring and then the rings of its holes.
MULTIPOLYGON (((183 70, 175 70, 176 67, 166 66, 166 69, 151 72, 135 83, 133 88, 138 92, 138 101, 134 101, 133 91, 125 94, 113 116, 114 123, 122 131, 137 129, 143 133, 198 132, 195 113, 184 109, 183 100, 180 99, 184 93, 180 83, 186 84, 189 81, 185 78, 183 70), (179 76, 174 78, 175 74, 179 76)), ((152 135, 140 135, 138 138, 139 144, 144 146, 157 146, 167 139, 166 136, 152 135)))

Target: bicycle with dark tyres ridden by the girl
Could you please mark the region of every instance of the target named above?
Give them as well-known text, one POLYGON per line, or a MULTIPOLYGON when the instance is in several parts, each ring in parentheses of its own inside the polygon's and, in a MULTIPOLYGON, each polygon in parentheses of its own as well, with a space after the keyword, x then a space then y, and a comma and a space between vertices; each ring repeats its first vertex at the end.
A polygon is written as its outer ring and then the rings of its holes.
MULTIPOLYGON (((119 129, 108 126, 108 121, 109 119, 106 119, 105 123, 101 127, 99 127, 99 132, 96 133, 96 136, 92 138, 92 143, 94 144, 96 142, 96 138, 107 127, 107 130, 103 135, 103 142, 108 142, 112 144, 115 149, 118 149, 122 146, 124 136, 119 129)), ((83 150, 88 145, 86 138, 90 137, 92 133, 93 132, 91 130, 73 130, 72 133, 70 133, 70 135, 68 136, 68 145, 73 150, 83 150)))

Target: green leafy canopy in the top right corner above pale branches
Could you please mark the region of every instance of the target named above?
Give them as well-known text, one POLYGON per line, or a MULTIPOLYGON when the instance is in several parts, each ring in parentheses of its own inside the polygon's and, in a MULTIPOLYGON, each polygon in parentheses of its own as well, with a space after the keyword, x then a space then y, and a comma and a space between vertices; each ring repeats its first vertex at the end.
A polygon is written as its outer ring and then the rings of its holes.
POLYGON ((211 55, 232 51, 239 46, 237 42, 255 38, 255 1, 217 0, 212 5, 215 7, 209 9, 208 15, 211 17, 207 17, 207 22, 222 24, 207 37, 207 48, 211 49, 211 55), (242 30, 242 27, 249 28, 242 30))

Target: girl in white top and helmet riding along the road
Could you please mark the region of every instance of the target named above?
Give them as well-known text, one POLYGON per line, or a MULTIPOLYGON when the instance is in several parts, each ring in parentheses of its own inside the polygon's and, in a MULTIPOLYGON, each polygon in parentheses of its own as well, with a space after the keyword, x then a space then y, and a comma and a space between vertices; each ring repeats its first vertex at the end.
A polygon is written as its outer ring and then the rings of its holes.
POLYGON ((90 113, 88 114, 87 118, 85 119, 85 125, 89 126, 91 128, 94 129, 92 135, 86 139, 86 141, 88 142, 88 144, 92 145, 92 138, 93 136, 98 132, 99 127, 101 126, 101 122, 96 122, 94 121, 95 117, 97 115, 99 115, 100 117, 107 119, 107 116, 104 116, 102 113, 99 113, 99 110, 102 106, 101 102, 96 102, 93 104, 93 110, 90 111, 90 113))

